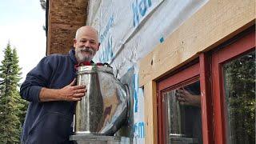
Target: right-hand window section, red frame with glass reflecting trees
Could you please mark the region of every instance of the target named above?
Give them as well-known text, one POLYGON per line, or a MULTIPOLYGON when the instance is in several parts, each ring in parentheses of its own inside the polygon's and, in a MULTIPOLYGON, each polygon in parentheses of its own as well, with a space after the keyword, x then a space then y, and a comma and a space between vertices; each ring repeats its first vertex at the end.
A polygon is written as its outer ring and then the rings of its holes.
POLYGON ((255 34, 214 52, 215 143, 255 143, 255 34))

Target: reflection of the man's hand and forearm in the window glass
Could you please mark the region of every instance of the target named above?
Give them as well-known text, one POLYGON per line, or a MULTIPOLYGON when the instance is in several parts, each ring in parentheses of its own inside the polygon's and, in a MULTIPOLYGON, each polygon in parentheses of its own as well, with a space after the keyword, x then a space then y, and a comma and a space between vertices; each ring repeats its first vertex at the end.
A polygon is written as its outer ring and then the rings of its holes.
POLYGON ((176 90, 176 98, 181 105, 187 106, 201 106, 201 97, 200 95, 190 94, 189 91, 184 88, 176 90))

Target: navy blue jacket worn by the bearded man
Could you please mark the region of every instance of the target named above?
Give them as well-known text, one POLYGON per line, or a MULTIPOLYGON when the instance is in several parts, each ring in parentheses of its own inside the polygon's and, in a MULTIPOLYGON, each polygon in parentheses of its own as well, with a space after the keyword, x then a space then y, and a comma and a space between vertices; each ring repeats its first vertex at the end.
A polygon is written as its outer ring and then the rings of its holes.
POLYGON ((68 55, 52 54, 42 58, 26 75, 20 94, 29 101, 22 130, 22 143, 71 143, 75 102, 39 102, 42 87, 60 89, 75 78, 74 50, 68 55))

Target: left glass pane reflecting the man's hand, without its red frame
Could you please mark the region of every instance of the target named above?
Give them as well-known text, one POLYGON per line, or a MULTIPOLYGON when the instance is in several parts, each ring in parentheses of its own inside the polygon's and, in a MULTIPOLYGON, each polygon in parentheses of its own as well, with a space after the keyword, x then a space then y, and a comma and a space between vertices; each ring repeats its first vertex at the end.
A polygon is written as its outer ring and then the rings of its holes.
POLYGON ((199 81, 163 93, 166 143, 202 143, 200 94, 199 81))

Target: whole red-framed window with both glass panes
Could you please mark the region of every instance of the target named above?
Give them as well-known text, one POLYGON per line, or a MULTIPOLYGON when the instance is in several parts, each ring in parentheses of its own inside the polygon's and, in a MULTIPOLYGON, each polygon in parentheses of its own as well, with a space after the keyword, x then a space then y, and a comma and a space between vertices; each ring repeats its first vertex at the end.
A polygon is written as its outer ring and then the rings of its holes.
POLYGON ((255 143, 254 31, 158 80, 158 143, 255 143))

